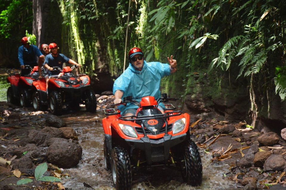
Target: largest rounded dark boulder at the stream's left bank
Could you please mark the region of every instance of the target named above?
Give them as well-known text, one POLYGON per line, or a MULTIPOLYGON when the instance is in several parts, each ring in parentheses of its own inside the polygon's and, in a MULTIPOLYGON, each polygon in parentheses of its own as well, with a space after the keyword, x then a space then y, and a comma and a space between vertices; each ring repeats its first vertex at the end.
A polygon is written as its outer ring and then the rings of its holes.
MULTIPOLYGON (((55 138, 54 138, 55 139, 55 138)), ((54 141, 47 151, 47 161, 62 168, 74 167, 81 160, 82 148, 80 145, 67 142, 54 141)))

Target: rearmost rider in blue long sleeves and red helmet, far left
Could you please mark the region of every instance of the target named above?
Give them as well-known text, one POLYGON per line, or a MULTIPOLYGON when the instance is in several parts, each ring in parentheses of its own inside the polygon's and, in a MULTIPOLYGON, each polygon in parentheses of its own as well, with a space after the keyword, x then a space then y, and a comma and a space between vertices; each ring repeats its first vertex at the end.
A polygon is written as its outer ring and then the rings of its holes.
POLYGON ((32 68, 34 66, 40 66, 44 60, 44 56, 37 46, 29 44, 27 37, 23 37, 21 42, 23 45, 18 48, 18 59, 21 65, 21 75, 28 75, 30 71, 24 69, 24 65, 30 65, 32 68), (39 58, 38 63, 36 56, 39 58))

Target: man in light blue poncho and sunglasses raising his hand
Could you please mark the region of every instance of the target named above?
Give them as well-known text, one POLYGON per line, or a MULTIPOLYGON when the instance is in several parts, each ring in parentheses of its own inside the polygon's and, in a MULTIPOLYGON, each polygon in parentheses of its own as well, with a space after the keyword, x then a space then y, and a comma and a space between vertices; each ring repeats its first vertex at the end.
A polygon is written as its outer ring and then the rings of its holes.
MULTIPOLYGON (((138 102, 144 96, 154 96, 155 99, 159 99, 161 97, 161 78, 177 71, 177 61, 171 55, 171 59, 167 57, 169 64, 147 63, 142 50, 138 47, 129 50, 128 59, 130 62, 128 68, 115 80, 113 85, 114 104, 122 102, 122 97, 126 96, 132 96, 138 102)), ((137 108, 137 105, 131 103, 127 103, 126 106, 118 106, 122 116, 135 115, 137 108)), ((162 102, 158 108, 164 113, 165 106, 162 102)))

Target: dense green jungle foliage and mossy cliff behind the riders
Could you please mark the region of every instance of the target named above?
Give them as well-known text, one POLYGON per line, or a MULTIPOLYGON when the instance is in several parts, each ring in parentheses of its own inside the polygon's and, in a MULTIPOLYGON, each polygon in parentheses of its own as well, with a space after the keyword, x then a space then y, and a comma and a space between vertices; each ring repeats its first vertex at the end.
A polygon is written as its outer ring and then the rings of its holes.
MULTIPOLYGON (((84 65, 98 91, 111 90, 123 72, 128 7, 127 0, 1 0, 0 64, 19 66, 27 30, 36 45, 55 42, 84 65)), ((138 46, 146 61, 163 63, 174 55, 178 72, 164 78, 162 91, 194 113, 282 127, 285 9, 280 0, 131 0, 127 50, 138 46)))

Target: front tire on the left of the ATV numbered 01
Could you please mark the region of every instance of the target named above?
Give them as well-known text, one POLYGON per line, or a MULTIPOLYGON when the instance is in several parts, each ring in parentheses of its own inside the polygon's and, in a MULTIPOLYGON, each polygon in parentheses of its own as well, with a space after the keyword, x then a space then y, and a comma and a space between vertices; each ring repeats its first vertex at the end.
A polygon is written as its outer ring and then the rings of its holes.
POLYGON ((112 181, 117 190, 131 189, 132 172, 128 152, 120 147, 114 147, 111 153, 112 181))

